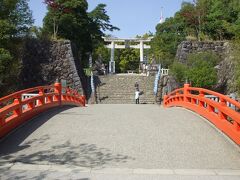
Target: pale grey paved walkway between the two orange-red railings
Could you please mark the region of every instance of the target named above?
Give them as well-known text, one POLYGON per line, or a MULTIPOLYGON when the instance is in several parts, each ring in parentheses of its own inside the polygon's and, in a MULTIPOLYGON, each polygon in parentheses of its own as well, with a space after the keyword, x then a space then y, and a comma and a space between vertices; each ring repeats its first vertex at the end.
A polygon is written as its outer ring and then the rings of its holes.
POLYGON ((239 179, 240 149, 181 108, 51 110, 0 143, 0 179, 239 179))

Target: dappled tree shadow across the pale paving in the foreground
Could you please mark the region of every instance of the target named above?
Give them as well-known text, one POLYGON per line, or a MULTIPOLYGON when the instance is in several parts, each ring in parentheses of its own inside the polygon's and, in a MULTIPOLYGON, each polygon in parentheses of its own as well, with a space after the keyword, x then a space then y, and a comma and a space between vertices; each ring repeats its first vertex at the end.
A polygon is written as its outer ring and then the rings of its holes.
MULTIPOLYGON (((39 141, 42 139, 40 138, 39 141)), ((36 143, 36 139, 34 140, 36 143)), ((41 142, 39 142, 41 143, 41 142)), ((31 144, 27 143, 29 147, 31 144)), ((13 163, 41 165, 71 165, 86 168, 104 168, 105 165, 116 165, 134 160, 129 156, 113 154, 109 149, 99 148, 95 144, 72 145, 69 141, 61 145, 53 145, 46 150, 32 153, 11 154, 2 157, 13 163)))

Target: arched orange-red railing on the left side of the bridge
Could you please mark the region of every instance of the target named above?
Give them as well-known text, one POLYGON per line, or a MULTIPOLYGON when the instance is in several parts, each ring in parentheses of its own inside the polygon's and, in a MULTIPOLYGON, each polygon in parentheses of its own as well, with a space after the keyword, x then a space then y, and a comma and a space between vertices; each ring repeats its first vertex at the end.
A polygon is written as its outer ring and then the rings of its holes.
POLYGON ((0 138, 47 109, 62 106, 85 106, 85 96, 60 83, 34 87, 0 98, 0 138))

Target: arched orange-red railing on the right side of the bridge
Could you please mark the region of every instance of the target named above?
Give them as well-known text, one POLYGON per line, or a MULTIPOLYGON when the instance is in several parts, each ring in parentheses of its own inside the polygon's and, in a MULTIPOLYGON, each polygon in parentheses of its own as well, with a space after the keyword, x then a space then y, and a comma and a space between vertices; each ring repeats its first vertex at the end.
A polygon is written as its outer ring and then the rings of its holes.
POLYGON ((240 145, 240 103, 236 100, 185 84, 164 97, 164 106, 180 106, 200 114, 240 145))

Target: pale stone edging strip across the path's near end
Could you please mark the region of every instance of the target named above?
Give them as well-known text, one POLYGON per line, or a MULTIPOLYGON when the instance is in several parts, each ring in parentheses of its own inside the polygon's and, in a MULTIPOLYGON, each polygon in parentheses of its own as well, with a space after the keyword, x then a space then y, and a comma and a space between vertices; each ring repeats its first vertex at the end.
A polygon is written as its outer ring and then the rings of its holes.
POLYGON ((86 168, 72 165, 44 165, 8 163, 0 169, 24 171, 84 172, 91 174, 144 174, 144 175, 189 175, 189 176, 240 176, 240 169, 144 169, 144 168, 86 168))

